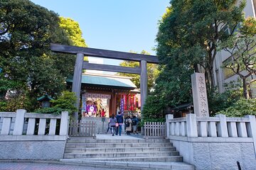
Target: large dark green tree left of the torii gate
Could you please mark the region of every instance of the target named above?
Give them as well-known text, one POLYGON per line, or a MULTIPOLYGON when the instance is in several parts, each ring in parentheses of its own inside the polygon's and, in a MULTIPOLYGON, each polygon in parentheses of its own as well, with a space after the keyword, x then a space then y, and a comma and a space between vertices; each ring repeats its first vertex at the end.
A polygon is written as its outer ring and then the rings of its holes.
POLYGON ((50 51, 50 42, 73 44, 58 15, 28 0, 2 0, 0 16, 1 96, 58 96, 75 64, 74 55, 50 51))

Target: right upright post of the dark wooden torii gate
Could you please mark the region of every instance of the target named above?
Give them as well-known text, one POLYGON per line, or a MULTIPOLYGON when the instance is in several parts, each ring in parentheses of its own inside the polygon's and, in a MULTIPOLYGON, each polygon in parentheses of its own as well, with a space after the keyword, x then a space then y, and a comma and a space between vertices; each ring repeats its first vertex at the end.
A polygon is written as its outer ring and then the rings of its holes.
POLYGON ((142 60, 140 62, 141 74, 140 74, 140 93, 141 93, 141 111, 143 110, 144 103, 146 101, 147 96, 147 69, 146 69, 146 61, 142 60))

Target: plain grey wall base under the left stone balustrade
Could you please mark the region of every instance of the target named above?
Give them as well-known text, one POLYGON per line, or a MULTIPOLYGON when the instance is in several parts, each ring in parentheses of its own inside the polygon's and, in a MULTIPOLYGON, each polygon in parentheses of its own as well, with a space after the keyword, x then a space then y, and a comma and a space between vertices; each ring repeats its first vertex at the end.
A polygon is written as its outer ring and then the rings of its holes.
POLYGON ((64 141, 0 141, 0 159, 63 159, 64 141))

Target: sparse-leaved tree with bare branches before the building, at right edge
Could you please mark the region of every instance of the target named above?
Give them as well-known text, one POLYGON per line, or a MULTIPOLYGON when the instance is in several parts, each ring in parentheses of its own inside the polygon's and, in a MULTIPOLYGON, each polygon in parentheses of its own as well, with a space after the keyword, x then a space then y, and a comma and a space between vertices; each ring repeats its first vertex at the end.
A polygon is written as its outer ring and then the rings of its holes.
POLYGON ((223 67, 231 69, 242 79, 243 96, 250 98, 248 86, 256 81, 256 19, 247 18, 235 37, 220 43, 220 49, 230 54, 231 62, 226 62, 223 67), (249 79, 251 78, 252 79, 249 79))

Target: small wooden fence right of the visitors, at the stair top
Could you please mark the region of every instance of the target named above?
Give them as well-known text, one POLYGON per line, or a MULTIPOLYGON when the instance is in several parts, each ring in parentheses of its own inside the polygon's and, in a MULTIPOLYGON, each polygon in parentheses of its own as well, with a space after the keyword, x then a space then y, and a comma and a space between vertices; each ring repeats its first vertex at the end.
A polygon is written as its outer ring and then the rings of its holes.
POLYGON ((166 123, 145 122, 144 138, 166 137, 166 123))

